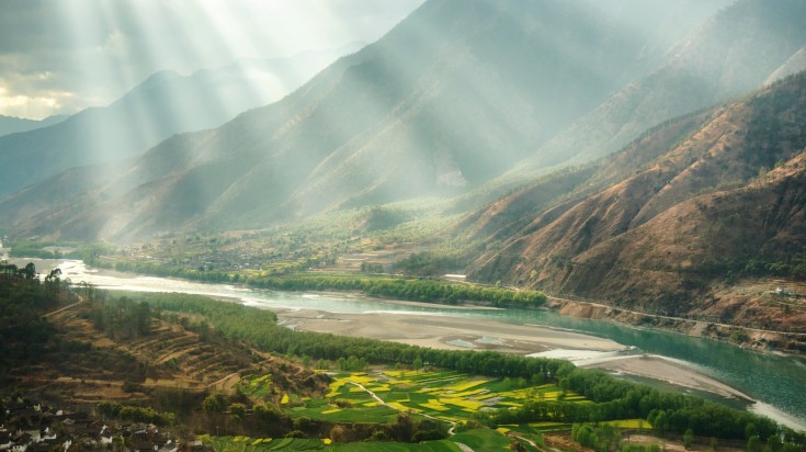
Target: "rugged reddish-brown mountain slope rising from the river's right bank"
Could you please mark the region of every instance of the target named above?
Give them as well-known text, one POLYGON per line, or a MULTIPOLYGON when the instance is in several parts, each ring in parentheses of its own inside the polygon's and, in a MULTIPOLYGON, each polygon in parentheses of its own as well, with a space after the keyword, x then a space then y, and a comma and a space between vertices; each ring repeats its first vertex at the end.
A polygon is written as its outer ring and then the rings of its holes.
POLYGON ((805 125, 799 72, 659 126, 468 218, 464 234, 495 249, 470 274, 646 312, 803 327, 803 314, 733 284, 806 279, 805 125), (547 185, 560 190, 543 195, 547 185))

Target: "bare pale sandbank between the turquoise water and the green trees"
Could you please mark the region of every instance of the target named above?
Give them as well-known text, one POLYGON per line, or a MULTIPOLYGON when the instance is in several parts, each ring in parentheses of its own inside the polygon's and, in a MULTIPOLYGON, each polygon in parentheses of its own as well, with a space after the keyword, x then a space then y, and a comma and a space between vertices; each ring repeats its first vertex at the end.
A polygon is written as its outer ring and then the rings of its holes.
POLYGON ((684 363, 634 354, 610 339, 536 325, 513 325, 432 315, 342 314, 317 309, 273 309, 281 325, 338 336, 361 337, 449 350, 493 350, 568 359, 581 368, 601 369, 702 391, 745 403, 746 394, 703 375, 684 363))

